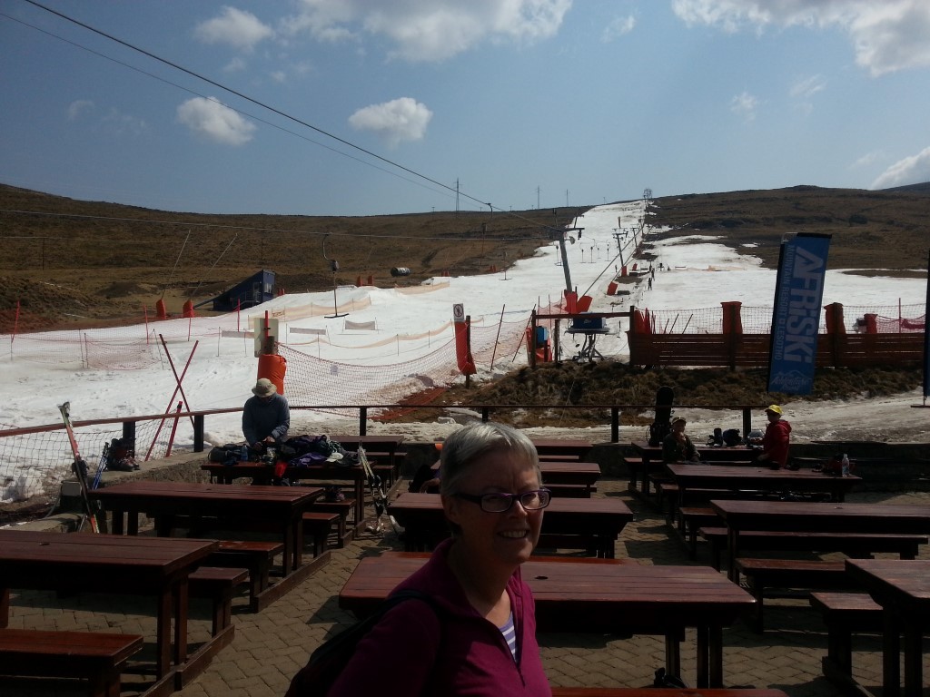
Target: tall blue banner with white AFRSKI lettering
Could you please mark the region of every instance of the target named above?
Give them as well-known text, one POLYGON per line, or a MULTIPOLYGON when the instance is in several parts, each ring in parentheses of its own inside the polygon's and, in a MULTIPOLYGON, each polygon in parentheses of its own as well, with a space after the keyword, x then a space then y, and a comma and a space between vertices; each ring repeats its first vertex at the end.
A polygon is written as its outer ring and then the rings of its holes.
POLYGON ((781 243, 768 362, 768 391, 810 394, 830 235, 801 232, 781 243))

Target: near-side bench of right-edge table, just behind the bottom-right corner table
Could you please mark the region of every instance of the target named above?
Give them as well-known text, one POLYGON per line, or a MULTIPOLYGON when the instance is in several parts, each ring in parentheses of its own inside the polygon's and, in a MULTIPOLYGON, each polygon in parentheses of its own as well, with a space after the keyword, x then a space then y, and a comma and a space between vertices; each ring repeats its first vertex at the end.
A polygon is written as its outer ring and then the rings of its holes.
POLYGON ((756 600, 752 628, 764 631, 763 598, 766 588, 848 588, 844 561, 820 559, 737 558, 737 571, 746 577, 746 587, 756 600))

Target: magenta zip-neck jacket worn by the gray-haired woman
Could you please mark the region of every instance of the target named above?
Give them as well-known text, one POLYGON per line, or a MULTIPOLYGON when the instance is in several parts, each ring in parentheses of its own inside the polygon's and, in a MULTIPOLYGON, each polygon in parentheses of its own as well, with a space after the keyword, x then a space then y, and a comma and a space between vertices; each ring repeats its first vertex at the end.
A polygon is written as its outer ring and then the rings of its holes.
POLYGON ((392 608, 359 642, 352 661, 328 697, 550 697, 539 658, 533 595, 520 576, 507 585, 519 644, 513 661, 498 627, 474 611, 446 563, 445 540, 395 590, 416 588, 434 598, 409 599, 392 608))

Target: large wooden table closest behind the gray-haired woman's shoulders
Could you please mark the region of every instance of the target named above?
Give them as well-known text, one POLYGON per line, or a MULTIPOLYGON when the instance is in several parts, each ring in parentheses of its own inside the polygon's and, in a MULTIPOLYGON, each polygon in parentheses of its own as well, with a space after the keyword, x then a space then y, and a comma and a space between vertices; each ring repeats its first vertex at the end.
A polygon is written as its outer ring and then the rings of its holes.
MULTIPOLYGON (((365 616, 427 557, 386 552, 362 559, 339 592, 339 607, 365 616)), ((680 642, 685 628, 695 627, 697 687, 724 684, 723 629, 752 608, 745 590, 708 567, 579 561, 523 564, 538 631, 662 635, 666 670, 681 675, 680 642)))

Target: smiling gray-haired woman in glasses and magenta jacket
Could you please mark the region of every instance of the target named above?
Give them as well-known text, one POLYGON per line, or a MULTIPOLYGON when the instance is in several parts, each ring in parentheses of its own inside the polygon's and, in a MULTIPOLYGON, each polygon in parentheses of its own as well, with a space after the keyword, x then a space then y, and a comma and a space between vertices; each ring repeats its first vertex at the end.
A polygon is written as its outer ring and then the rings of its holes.
POLYGON ((452 538, 394 589, 432 602, 392 607, 359 642, 330 697, 551 695, 533 595, 520 575, 551 497, 536 448, 512 427, 474 424, 445 440, 440 470, 452 538))

